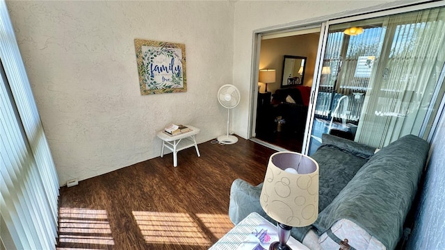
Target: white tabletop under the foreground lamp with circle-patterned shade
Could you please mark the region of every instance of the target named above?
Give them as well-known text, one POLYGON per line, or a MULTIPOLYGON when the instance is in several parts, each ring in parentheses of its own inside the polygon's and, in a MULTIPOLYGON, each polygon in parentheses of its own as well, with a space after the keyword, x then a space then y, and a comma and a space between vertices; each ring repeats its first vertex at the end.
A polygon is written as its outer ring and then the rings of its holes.
MULTIPOLYGON (((270 244, 277 240, 277 226, 261 215, 251 213, 213 244, 209 250, 269 249, 270 244)), ((309 250, 292 237, 289 238, 287 244, 293 250, 309 250)))

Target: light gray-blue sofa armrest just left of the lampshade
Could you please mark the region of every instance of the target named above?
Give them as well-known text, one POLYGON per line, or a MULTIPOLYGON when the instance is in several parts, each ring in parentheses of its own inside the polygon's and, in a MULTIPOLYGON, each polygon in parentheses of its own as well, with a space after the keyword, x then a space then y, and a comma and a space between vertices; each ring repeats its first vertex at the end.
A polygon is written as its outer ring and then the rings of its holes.
POLYGON ((259 203, 261 188, 263 188, 263 183, 253 186, 239 178, 232 183, 230 188, 229 217, 234 224, 238 224, 252 212, 266 217, 266 213, 259 203))

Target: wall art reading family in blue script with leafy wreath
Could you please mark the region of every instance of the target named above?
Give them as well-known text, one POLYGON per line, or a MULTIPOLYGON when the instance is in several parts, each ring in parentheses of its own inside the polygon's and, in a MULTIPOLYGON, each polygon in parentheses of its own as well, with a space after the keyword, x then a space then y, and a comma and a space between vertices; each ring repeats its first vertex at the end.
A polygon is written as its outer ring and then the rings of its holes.
POLYGON ((134 40, 140 94, 186 92, 186 45, 134 40))

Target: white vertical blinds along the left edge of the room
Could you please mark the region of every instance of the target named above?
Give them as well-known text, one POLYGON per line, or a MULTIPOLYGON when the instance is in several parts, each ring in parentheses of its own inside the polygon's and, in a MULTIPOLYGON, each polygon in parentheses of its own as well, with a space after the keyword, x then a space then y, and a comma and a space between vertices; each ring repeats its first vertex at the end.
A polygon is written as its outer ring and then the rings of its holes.
POLYGON ((58 177, 0 1, 0 249, 55 249, 58 177))

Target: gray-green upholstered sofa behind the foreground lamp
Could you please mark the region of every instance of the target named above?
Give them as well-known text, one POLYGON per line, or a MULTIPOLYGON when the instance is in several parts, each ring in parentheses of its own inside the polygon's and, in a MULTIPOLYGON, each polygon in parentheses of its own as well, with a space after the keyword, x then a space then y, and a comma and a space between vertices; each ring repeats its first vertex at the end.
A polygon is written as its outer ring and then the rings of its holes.
MULTIPOLYGON (((429 144, 406 135, 377 153, 375 148, 324 134, 311 157, 319 169, 319 215, 291 235, 311 249, 335 249, 348 238, 355 249, 394 249, 416 195, 429 144)), ((230 192, 234 224, 252 212, 270 222, 259 203, 262 183, 236 179, 230 192)))

